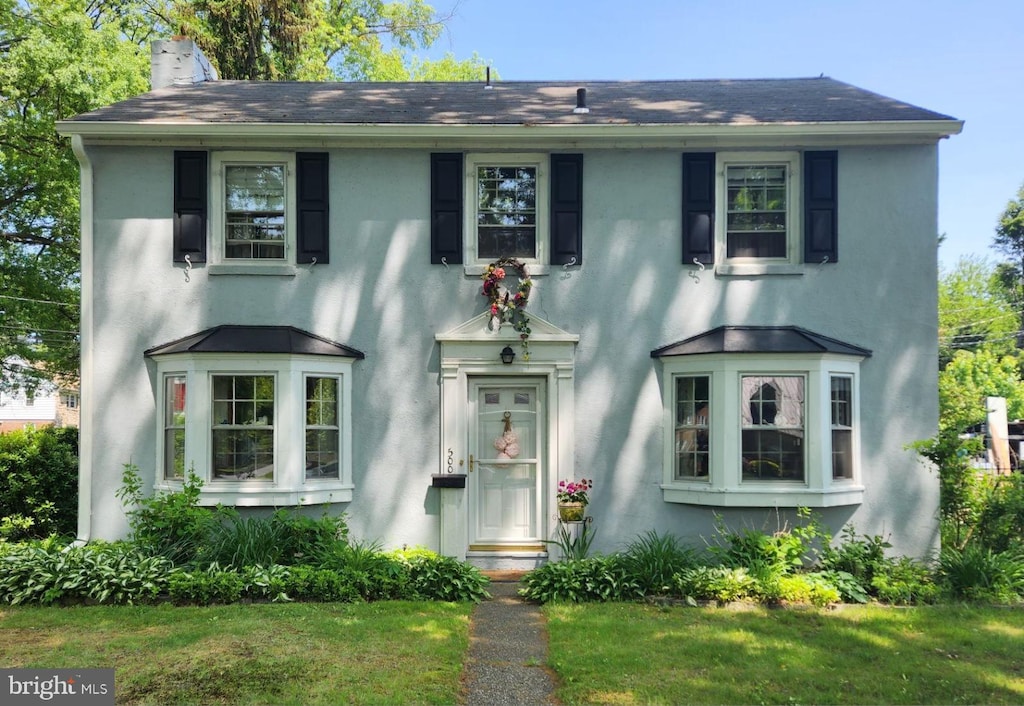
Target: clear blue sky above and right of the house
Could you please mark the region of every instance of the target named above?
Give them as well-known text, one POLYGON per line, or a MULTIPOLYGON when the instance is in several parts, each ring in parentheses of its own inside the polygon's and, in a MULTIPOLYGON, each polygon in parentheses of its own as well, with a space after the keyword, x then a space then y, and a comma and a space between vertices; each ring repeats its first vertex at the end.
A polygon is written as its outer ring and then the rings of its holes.
POLYGON ((824 74, 966 121, 939 148, 944 266, 989 247, 1024 183, 1024 0, 434 0, 431 56, 505 80, 824 74))

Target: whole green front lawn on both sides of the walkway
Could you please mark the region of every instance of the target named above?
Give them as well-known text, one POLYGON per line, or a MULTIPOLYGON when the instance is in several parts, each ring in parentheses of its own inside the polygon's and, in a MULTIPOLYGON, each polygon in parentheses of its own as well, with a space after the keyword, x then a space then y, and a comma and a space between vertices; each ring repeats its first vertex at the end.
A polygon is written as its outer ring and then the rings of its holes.
MULTIPOLYGON (((454 704, 472 606, 6 608, 0 666, 123 704, 454 704)), ((1024 609, 548 606, 565 704, 1021 704, 1024 609)))

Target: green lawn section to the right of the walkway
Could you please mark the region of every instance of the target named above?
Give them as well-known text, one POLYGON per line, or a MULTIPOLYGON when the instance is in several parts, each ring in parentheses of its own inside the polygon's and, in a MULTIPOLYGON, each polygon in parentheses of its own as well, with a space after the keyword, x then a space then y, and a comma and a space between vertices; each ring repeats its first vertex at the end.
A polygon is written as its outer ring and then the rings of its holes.
POLYGON ((1024 611, 549 605, 571 704, 1020 704, 1024 611))

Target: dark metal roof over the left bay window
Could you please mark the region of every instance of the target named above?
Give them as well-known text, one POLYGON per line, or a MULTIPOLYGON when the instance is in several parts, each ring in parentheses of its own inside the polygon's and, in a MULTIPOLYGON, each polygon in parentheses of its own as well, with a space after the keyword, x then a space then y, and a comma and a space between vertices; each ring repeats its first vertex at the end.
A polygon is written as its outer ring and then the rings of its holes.
POLYGON ((339 356, 358 360, 366 358, 355 348, 293 326, 215 326, 152 347, 145 351, 145 356, 184 352, 290 354, 339 356))

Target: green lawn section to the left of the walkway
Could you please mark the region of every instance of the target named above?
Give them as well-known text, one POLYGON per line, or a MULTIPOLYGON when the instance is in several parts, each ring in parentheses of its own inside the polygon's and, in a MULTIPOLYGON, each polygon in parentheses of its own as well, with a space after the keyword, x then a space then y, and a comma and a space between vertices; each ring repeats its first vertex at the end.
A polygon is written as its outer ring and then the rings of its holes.
POLYGON ((119 704, 452 704, 470 604, 7 608, 4 667, 115 669, 119 704))

